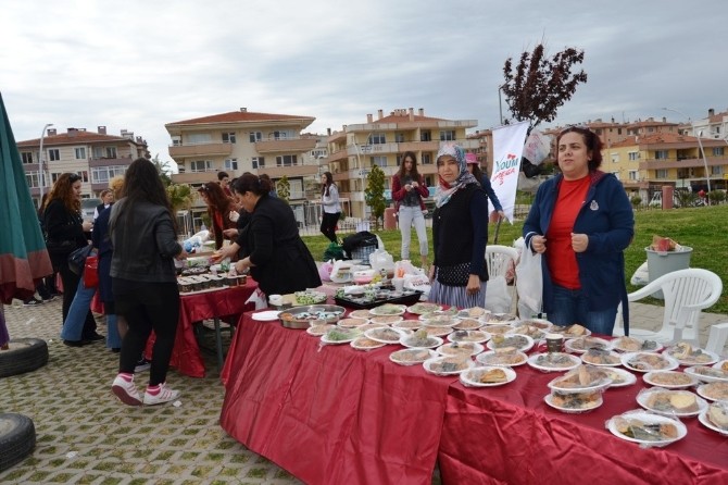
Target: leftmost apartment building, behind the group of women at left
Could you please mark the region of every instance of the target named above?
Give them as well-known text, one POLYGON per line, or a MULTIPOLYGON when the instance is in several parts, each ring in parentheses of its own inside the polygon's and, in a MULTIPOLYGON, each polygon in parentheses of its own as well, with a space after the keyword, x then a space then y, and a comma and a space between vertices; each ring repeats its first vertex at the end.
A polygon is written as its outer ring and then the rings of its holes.
POLYGON ((47 194, 58 177, 65 172, 77 173, 83 182, 83 198, 96 198, 109 181, 126 173, 131 162, 140 157, 149 158, 147 141, 134 132, 121 130, 120 136, 106 133, 105 126, 97 132, 86 128, 67 128, 58 133, 48 129, 42 138, 42 158, 39 156, 40 138, 17 142, 30 196, 38 206, 42 194, 47 194), (40 162, 43 163, 41 182, 40 162))

